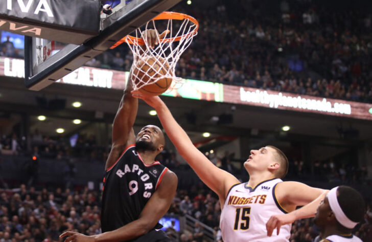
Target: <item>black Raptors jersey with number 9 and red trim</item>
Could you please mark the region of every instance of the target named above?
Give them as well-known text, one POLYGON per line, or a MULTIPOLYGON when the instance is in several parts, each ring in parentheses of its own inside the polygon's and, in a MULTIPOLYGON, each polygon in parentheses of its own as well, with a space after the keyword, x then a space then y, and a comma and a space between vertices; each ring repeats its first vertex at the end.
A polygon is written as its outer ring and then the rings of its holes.
MULTIPOLYGON (((118 229, 138 219, 167 170, 157 161, 146 165, 135 145, 129 145, 118 161, 105 172, 102 232, 118 229)), ((158 228, 161 228, 160 224, 155 227, 158 228)))

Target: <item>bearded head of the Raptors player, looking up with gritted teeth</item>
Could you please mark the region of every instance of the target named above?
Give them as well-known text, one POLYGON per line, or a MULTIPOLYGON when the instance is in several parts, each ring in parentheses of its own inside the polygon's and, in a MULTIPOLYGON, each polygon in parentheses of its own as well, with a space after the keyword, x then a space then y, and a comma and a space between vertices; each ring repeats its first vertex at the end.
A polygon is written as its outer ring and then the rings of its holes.
POLYGON ((139 151, 152 151, 156 155, 164 149, 165 138, 161 129, 155 125, 143 127, 135 139, 136 149, 139 151))

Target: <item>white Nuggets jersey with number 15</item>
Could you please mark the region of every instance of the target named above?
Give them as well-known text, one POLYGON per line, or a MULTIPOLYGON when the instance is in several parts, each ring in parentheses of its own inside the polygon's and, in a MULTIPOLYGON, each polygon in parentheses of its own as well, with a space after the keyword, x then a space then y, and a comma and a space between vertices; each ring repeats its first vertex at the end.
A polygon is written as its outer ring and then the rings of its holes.
POLYGON ((267 236, 266 223, 271 215, 287 213, 275 198, 281 179, 259 183, 254 188, 240 183, 230 188, 222 209, 220 228, 224 242, 288 242, 291 225, 284 225, 276 235, 267 236))

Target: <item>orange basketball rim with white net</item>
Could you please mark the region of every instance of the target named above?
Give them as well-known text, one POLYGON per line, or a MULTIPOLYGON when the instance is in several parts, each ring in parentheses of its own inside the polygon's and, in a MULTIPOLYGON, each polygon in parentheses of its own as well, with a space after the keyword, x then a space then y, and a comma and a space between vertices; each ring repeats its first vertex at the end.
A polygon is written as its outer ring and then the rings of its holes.
POLYGON ((133 53, 132 75, 130 78, 134 90, 141 89, 145 85, 154 84, 158 80, 164 78, 171 78, 171 80, 173 80, 171 88, 175 88, 177 83, 183 83, 182 78, 175 76, 176 64, 181 54, 190 46, 193 37, 197 34, 198 28, 198 21, 187 14, 163 12, 148 21, 143 29, 136 29, 133 34, 134 36, 125 36, 110 49, 114 49, 123 42, 128 44, 133 53), (155 25, 155 20, 157 27, 155 25), (159 39, 157 35, 158 45, 152 49, 147 41, 144 40, 147 39, 147 36, 144 36, 144 34, 148 29, 155 29, 158 33, 162 33, 164 30, 169 30, 169 32, 161 39, 159 39), (145 73, 141 71, 141 76, 137 76, 136 74, 138 71, 135 70, 142 70, 144 63, 149 58, 158 61, 153 61, 154 64, 151 65, 150 68, 147 68, 145 73), (156 68, 154 65, 156 65, 156 68), (159 65, 161 66, 159 67, 159 65), (147 78, 143 78, 144 75, 146 75, 147 78))

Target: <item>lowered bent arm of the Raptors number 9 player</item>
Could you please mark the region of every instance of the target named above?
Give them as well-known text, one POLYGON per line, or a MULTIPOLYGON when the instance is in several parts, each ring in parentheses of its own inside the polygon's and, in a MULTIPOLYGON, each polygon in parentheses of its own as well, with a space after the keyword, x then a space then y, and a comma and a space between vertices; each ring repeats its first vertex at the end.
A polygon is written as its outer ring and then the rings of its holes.
POLYGON ((98 235, 86 236, 77 232, 67 231, 61 234, 60 237, 68 236, 65 242, 121 242, 147 234, 168 211, 176 194, 176 189, 177 175, 168 170, 155 193, 135 221, 117 230, 98 235))

